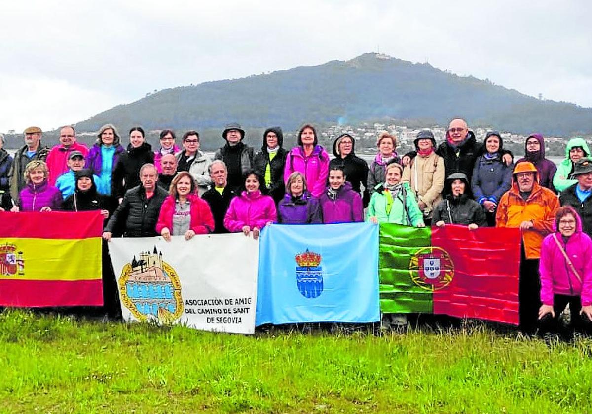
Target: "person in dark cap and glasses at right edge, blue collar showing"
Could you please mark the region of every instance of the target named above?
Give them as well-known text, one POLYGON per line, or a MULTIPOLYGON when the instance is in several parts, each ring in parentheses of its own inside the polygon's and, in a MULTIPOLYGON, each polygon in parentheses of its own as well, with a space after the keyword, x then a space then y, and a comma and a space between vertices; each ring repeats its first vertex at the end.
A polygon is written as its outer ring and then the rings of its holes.
POLYGON ((562 206, 572 206, 582 218, 584 232, 592 237, 592 159, 586 157, 574 164, 571 178, 577 183, 559 194, 562 206))

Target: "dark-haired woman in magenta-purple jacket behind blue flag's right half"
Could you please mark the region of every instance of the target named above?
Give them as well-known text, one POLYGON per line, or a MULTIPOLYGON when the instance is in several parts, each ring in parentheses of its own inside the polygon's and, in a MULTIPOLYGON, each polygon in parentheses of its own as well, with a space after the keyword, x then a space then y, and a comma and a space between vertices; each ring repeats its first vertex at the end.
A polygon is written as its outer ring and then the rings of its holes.
POLYGON ((329 170, 329 187, 320 197, 323 223, 360 222, 363 219, 361 196, 345 180, 342 167, 329 170))

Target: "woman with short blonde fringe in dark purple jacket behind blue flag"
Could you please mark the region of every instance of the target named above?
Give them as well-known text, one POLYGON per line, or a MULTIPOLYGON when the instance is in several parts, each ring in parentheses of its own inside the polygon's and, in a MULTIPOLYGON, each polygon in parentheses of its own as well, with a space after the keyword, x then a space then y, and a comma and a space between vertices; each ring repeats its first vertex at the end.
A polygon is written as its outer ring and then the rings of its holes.
POLYGON ((278 203, 278 223, 313 224, 322 223, 318 199, 308 192, 306 179, 301 172, 290 174, 286 182, 286 193, 278 203))

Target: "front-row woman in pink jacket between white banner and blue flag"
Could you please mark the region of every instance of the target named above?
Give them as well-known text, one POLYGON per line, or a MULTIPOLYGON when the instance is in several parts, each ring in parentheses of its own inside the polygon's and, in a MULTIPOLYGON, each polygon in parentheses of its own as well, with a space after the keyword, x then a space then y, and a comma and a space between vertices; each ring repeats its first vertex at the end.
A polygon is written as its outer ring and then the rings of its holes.
POLYGON ((274 199, 259 190, 262 183, 263 177, 255 170, 246 174, 245 191, 230 201, 224 216, 224 227, 230 232, 242 231, 246 236, 253 232, 253 238, 256 239, 263 226, 277 221, 274 199))

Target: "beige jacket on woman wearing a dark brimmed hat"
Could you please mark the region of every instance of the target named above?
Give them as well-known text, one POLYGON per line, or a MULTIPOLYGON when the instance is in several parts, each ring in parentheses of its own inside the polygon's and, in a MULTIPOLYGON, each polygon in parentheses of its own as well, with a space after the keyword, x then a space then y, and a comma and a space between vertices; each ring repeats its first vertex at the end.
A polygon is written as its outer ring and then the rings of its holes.
POLYGON ((409 183, 417 201, 425 203, 423 213, 426 217, 432 216, 433 209, 442 200, 445 170, 444 160, 434 152, 427 157, 417 155, 403 169, 401 182, 409 183))

